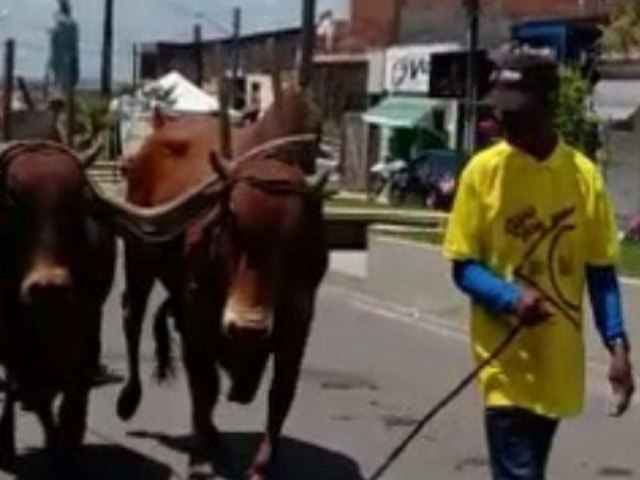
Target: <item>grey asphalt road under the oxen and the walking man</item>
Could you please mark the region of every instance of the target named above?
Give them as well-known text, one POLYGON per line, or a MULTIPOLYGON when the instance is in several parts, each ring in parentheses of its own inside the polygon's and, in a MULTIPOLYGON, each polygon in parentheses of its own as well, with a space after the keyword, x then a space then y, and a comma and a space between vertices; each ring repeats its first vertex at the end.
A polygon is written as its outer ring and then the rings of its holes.
MULTIPOLYGON (((120 290, 118 285, 106 307, 105 360, 124 371, 120 290)), ((103 387, 92 397, 82 466, 88 479, 184 478, 188 433, 184 375, 172 385, 154 385, 148 333, 145 342, 148 384, 137 417, 123 424, 115 416, 118 385, 103 387)), ((416 318, 399 307, 325 286, 276 478, 365 480, 470 367, 463 331, 437 318, 416 318)), ((562 426, 551 479, 640 478, 640 413, 636 409, 624 420, 606 417, 604 372, 603 365, 590 365, 588 409, 579 420, 562 426)), ((217 423, 225 432, 221 478, 242 478, 264 421, 265 390, 250 408, 221 402, 217 411, 217 423)), ((488 478, 481 418, 480 399, 471 388, 428 426, 385 478, 488 478)), ((46 463, 37 448, 40 441, 35 419, 21 415, 18 478, 46 478, 46 463)), ((0 473, 0 479, 5 478, 13 477, 0 473)))

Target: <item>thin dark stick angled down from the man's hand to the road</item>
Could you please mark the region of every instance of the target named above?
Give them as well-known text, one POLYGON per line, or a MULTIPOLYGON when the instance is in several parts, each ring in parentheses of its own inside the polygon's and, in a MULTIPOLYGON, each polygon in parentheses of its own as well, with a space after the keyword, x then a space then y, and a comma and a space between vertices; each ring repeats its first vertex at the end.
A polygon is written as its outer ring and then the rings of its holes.
POLYGON ((489 355, 483 362, 481 362, 476 368, 471 371, 466 377, 462 379, 456 387, 451 390, 442 400, 440 400, 429 412, 427 412, 424 417, 420 420, 420 422, 413 428, 413 430, 407 435, 407 437, 398 445, 393 452, 386 458, 386 460, 378 467, 378 469, 369 477, 368 480, 379 480, 382 478, 389 468, 400 458, 400 456, 404 453, 404 451, 409 447, 409 445, 415 440, 415 438, 422 432, 424 427, 427 426, 431 420, 434 419, 436 415, 438 415, 442 410, 448 407, 451 402, 453 402, 460 394, 473 383, 478 375, 488 367, 491 363, 497 360, 507 348, 513 343, 516 337, 522 331, 523 325, 521 323, 514 326, 505 339, 496 347, 496 349, 489 355))

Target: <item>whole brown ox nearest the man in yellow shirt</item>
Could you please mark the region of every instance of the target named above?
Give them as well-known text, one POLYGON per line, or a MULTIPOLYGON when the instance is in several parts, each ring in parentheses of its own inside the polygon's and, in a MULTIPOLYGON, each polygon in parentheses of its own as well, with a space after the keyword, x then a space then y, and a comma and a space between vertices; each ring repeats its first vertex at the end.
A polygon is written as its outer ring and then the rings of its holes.
MULTIPOLYGON (((249 403, 273 355, 267 430, 250 471, 255 479, 264 478, 291 408, 316 291, 327 264, 322 198, 308 185, 300 167, 315 154, 317 132, 310 116, 304 96, 286 92, 281 104, 236 136, 236 152, 245 156, 231 171, 215 155, 210 156, 208 149, 217 146, 213 130, 198 128, 193 119, 163 123, 131 159, 129 200, 149 207, 176 196, 178 200, 158 212, 157 208, 139 209, 102 197, 108 216, 125 232, 133 231, 134 237, 147 240, 164 239, 155 252, 163 255, 155 272, 169 288, 172 310, 179 317, 192 425, 198 438, 215 438, 211 415, 219 393, 217 366, 231 378, 229 399, 249 403), (307 138, 302 147, 287 142, 248 153, 265 142, 305 133, 312 133, 314 141, 309 143, 307 138), (173 168, 160 173, 164 165, 173 168), (178 174, 174 183, 172 172, 184 165, 194 170, 178 174), (217 172, 213 175, 212 167, 217 172), (138 177, 142 171, 147 173, 138 177), (144 178, 155 180, 143 188, 144 178), (201 183, 204 180, 201 188, 189 189, 199 178, 201 183), (186 195, 180 197, 185 190, 186 195), (187 224, 186 234, 178 237, 172 249, 166 243, 167 235, 182 232, 187 224)), ((132 415, 140 400, 138 342, 154 274, 149 260, 153 248, 135 246, 131 237, 128 244, 137 253, 127 256, 125 329, 132 375, 120 397, 121 417, 132 415), (145 270, 130 268, 141 262, 147 262, 142 283, 134 277, 145 270)), ((157 319, 157 326, 162 323, 162 318, 157 319)), ((156 331, 166 333, 167 329, 156 331)), ((160 335, 157 340, 160 364, 166 368, 167 339, 160 335)), ((201 460, 198 455, 191 457, 194 471, 205 465, 201 460)))

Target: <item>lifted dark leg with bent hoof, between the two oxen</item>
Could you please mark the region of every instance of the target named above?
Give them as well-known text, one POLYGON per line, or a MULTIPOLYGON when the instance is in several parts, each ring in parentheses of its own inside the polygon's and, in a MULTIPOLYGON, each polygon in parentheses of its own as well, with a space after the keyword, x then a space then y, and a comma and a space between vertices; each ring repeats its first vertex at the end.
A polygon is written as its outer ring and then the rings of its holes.
POLYGON ((130 420, 135 415, 142 399, 142 382, 140 381, 140 335, 142 322, 147 307, 147 300, 153 286, 153 277, 140 275, 144 266, 137 265, 133 254, 126 251, 126 290, 124 303, 124 334, 127 343, 127 364, 129 376, 127 383, 120 391, 117 404, 118 417, 130 420))

